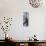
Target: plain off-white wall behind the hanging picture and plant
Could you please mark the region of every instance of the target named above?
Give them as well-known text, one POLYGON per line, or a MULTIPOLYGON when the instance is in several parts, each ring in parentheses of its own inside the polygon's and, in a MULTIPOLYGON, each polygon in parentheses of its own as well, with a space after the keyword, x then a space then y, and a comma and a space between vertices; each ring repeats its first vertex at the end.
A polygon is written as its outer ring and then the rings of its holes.
POLYGON ((39 40, 46 39, 46 8, 32 8, 28 0, 0 0, 0 17, 3 16, 13 17, 11 29, 8 31, 10 37, 27 40, 36 34, 39 40), (28 27, 23 27, 24 11, 29 12, 28 27))

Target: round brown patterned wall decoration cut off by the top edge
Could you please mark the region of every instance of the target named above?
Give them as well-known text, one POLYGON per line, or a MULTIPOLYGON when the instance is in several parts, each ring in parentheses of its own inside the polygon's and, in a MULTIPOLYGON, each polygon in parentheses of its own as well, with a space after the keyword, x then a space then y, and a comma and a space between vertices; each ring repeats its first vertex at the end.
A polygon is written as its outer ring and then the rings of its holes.
POLYGON ((44 3, 45 3, 45 1, 43 1, 43 0, 29 0, 29 4, 30 4, 33 8, 39 8, 39 7, 41 7, 44 3))

